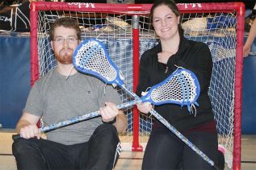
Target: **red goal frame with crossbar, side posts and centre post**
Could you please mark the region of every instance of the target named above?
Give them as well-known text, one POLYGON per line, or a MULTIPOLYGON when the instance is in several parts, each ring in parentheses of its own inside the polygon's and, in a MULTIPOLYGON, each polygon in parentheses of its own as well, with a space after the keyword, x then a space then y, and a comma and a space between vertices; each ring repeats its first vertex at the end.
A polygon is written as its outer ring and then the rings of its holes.
MULTIPOLYGON (((145 11, 148 13, 151 4, 100 4, 100 3, 78 3, 78 2, 31 2, 30 20, 31 20, 31 85, 39 78, 39 62, 37 48, 37 19, 39 10, 84 10, 91 12, 109 12, 115 11, 145 11)), ((200 12, 229 12, 237 11, 237 50, 236 50, 236 68, 235 68, 235 98, 234 98, 234 142, 233 142, 233 169, 241 169, 241 103, 242 103, 242 71, 243 71, 243 39, 244 39, 244 13, 245 6, 242 2, 227 3, 187 3, 178 4, 178 9, 182 13, 200 12)), ((139 65, 139 29, 133 27, 133 90, 138 83, 138 65, 139 65)), ((133 142, 132 151, 142 151, 138 139, 139 131, 139 113, 137 110, 133 114, 133 142)))

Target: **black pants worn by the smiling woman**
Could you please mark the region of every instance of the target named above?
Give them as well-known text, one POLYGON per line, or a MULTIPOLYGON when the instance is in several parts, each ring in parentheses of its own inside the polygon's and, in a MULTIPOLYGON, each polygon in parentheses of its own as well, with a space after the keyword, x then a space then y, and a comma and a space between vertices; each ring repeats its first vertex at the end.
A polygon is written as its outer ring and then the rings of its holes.
MULTIPOLYGON (((186 134, 191 143, 199 147, 211 160, 217 159, 217 135, 211 132, 189 132, 186 134)), ((170 131, 152 131, 145 149, 143 170, 170 169, 214 169, 187 144, 170 131)))

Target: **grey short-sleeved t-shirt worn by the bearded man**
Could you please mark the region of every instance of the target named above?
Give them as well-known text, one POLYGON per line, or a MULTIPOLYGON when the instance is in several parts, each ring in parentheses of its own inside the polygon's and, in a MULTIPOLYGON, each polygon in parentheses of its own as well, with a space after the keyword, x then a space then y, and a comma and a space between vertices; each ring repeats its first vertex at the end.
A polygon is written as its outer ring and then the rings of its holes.
MULTIPOLYGON (((111 85, 98 78, 76 73, 67 80, 52 69, 31 88, 24 112, 43 117, 44 125, 62 122, 78 115, 98 111, 104 102, 120 104, 121 100, 111 85)), ((100 117, 58 128, 46 133, 49 140, 66 145, 86 142, 99 124, 100 117)))

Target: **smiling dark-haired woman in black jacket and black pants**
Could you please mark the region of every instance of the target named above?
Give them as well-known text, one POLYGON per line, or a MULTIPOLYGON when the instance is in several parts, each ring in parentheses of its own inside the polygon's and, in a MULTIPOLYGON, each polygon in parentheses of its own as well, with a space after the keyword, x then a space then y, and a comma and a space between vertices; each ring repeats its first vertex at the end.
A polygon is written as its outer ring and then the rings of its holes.
MULTIPOLYGON (((174 104, 155 106, 162 117, 216 162, 217 132, 208 97, 212 76, 212 56, 208 46, 188 40, 183 35, 178 7, 171 0, 155 2, 150 11, 153 28, 159 44, 141 56, 139 85, 136 93, 163 81, 178 67, 190 69, 199 79, 200 96, 196 114, 189 114, 187 107, 174 104)), ((138 104, 142 113, 153 108, 148 103, 138 104)), ((187 147, 161 122, 153 122, 153 130, 145 149, 142 169, 211 169, 212 166, 187 147)))

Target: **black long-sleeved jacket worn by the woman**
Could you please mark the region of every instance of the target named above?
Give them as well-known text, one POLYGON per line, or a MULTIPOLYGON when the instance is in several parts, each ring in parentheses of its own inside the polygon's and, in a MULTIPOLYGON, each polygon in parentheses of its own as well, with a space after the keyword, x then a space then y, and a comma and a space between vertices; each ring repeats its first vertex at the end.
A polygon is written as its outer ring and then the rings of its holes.
POLYGON ((161 43, 144 52, 141 56, 139 84, 136 93, 141 96, 142 91, 146 91, 148 87, 165 80, 177 69, 175 65, 187 68, 195 73, 199 79, 200 95, 197 100, 199 107, 196 106, 196 115, 189 114, 187 106, 181 107, 175 104, 154 106, 154 109, 179 131, 213 120, 212 105, 208 97, 208 87, 212 76, 212 55, 208 46, 182 37, 178 52, 171 56, 167 62, 167 73, 165 73, 166 64, 157 61, 158 52, 162 52, 161 43))

